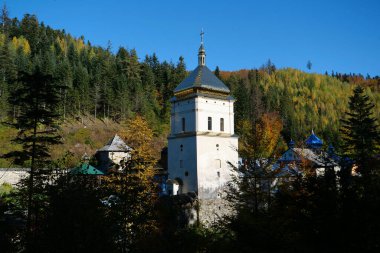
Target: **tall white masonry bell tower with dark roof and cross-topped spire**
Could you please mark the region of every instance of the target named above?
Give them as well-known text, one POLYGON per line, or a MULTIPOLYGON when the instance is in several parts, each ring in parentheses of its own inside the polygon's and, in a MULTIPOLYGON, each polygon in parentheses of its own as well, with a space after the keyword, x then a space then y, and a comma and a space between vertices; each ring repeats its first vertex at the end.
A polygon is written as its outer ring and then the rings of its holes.
POLYGON ((238 165, 234 98, 205 65, 203 33, 198 67, 174 90, 168 137, 169 194, 195 192, 198 219, 223 213, 223 187, 238 165))

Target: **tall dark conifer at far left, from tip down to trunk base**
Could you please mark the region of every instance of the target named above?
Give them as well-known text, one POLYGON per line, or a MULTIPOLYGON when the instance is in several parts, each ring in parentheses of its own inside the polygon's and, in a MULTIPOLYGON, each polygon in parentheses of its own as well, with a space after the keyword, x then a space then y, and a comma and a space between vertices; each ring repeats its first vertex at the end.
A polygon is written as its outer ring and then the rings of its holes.
POLYGON ((21 85, 13 92, 11 104, 20 108, 16 122, 10 123, 18 129, 18 135, 13 140, 22 145, 21 151, 13 151, 5 155, 13 158, 14 163, 30 168, 29 177, 24 182, 21 193, 27 196, 27 231, 26 243, 28 250, 33 247, 36 236, 36 220, 40 216, 43 204, 41 196, 47 183, 49 165, 49 148, 60 143, 57 134, 56 113, 58 108, 58 85, 49 74, 41 72, 37 67, 32 73, 20 73, 21 85))

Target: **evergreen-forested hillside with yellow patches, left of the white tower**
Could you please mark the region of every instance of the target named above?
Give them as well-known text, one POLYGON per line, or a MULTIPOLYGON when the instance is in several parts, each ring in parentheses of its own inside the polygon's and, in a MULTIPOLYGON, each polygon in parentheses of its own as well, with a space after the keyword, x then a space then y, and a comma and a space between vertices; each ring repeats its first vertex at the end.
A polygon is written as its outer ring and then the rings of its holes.
POLYGON ((17 86, 17 74, 39 66, 60 85, 63 118, 110 118, 115 121, 144 115, 155 130, 168 124, 169 98, 186 75, 183 58, 177 64, 160 62, 153 54, 139 58, 136 51, 92 46, 84 38, 39 24, 36 16, 18 21, 2 17, 0 34, 0 117, 13 117, 8 99, 17 86))

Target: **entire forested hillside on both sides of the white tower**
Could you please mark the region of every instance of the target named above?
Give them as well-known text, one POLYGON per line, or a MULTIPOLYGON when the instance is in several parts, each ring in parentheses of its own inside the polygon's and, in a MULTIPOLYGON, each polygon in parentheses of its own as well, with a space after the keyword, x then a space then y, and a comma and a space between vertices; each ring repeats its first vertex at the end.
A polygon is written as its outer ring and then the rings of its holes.
MULTIPOLYGON (((12 121, 23 110, 10 105, 9 101, 14 99, 10 94, 18 86, 19 74, 38 66, 63 87, 59 90, 63 124, 75 121, 84 125, 90 119, 118 124, 140 114, 148 120, 156 136, 162 138, 167 134, 169 99, 176 85, 188 74, 182 57, 172 63, 159 61, 154 53, 138 56, 134 49, 93 46, 84 37, 74 38, 64 30, 39 23, 34 15, 18 20, 9 18, 3 11, 1 22, 0 121, 12 121)), ((286 141, 290 138, 302 141, 314 129, 326 142, 338 146, 339 120, 354 84, 366 87, 380 118, 379 78, 276 69, 271 62, 259 69, 238 72, 216 69, 215 72, 237 99, 238 126, 244 119, 254 121, 264 112, 277 111, 283 120, 286 141)), ((0 129, 0 140, 4 143, 14 134, 7 129, 0 129)), ((63 136, 66 137, 65 133, 63 136)), ((89 145, 80 139, 80 134, 77 136, 79 139, 72 141, 73 145, 89 145)), ((0 153, 10 148, 8 145, 0 153)), ((96 148, 99 147, 89 149, 96 148)))

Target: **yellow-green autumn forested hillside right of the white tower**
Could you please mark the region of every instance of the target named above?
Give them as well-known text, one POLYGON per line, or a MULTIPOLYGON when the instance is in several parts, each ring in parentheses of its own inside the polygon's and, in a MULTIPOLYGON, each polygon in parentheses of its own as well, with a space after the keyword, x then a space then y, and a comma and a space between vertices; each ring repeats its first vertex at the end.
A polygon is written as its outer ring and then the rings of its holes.
POLYGON ((291 68, 276 70, 270 61, 259 69, 219 75, 237 98, 237 123, 241 119, 255 120, 262 112, 277 111, 284 123, 286 141, 303 141, 314 129, 326 142, 339 146, 339 121, 355 85, 366 87, 380 118, 379 77, 331 76, 291 68))

